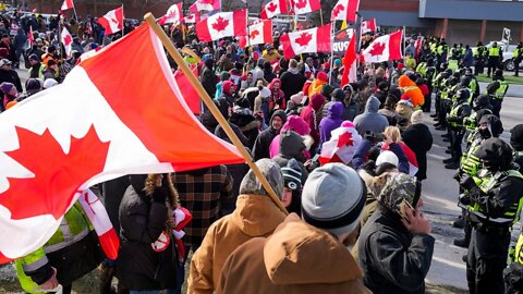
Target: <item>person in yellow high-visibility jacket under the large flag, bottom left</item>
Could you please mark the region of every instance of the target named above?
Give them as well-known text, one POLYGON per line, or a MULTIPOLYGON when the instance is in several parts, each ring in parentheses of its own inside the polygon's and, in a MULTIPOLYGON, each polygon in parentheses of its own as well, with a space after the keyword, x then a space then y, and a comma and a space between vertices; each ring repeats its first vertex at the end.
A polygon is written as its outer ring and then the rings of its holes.
POLYGON ((73 281, 93 271, 102 259, 98 237, 76 203, 46 245, 14 265, 26 293, 48 292, 61 284, 62 293, 68 294, 73 281))

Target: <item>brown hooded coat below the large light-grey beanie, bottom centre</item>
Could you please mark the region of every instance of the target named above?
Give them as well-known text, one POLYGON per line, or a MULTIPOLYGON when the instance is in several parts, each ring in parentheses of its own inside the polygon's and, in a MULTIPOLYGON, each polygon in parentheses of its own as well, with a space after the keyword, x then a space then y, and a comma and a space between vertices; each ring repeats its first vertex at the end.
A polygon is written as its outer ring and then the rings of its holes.
POLYGON ((343 244, 292 213, 273 235, 232 253, 217 293, 370 293, 362 277, 343 244))

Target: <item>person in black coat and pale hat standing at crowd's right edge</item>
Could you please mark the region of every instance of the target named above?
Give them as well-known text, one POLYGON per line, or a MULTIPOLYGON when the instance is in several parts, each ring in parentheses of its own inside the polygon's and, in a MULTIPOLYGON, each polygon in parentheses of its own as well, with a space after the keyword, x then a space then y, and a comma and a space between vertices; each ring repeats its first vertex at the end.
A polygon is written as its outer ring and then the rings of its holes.
POLYGON ((423 111, 412 113, 411 125, 401 134, 403 142, 416 154, 418 181, 427 179, 427 152, 433 147, 433 135, 423 123, 423 111))

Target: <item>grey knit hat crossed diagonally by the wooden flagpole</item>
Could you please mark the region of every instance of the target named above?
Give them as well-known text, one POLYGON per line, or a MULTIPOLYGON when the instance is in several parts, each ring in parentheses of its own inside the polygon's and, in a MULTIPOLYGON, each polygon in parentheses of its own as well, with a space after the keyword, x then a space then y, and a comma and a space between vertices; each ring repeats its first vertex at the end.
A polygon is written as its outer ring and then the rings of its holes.
MULTIPOLYGON (((256 161, 262 173, 267 177, 270 186, 275 189, 276 195, 281 199, 281 193, 283 192, 283 175, 278 163, 271 161, 268 158, 263 158, 256 161)), ((253 170, 250 170, 240 184, 240 194, 253 194, 253 195, 269 195, 267 191, 262 186, 256 174, 253 170)))

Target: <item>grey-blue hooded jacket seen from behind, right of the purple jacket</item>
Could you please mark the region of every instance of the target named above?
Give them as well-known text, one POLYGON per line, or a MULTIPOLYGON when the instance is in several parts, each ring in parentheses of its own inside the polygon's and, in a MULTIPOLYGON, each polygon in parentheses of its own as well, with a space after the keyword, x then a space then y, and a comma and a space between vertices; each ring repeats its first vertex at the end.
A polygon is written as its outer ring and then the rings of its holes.
POLYGON ((354 119, 354 125, 357 133, 364 135, 366 132, 382 133, 389 122, 378 113, 379 100, 376 97, 369 97, 365 105, 365 111, 354 119))

